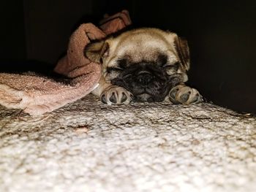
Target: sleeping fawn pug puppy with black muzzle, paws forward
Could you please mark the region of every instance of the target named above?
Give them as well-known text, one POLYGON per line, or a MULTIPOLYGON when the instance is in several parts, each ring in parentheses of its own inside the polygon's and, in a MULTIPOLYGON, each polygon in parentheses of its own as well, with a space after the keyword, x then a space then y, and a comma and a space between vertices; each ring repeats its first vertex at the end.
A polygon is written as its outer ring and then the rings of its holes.
POLYGON ((84 54, 102 64, 99 86, 93 91, 105 104, 131 101, 203 101, 188 80, 189 47, 177 34, 158 28, 138 28, 86 46, 84 54))

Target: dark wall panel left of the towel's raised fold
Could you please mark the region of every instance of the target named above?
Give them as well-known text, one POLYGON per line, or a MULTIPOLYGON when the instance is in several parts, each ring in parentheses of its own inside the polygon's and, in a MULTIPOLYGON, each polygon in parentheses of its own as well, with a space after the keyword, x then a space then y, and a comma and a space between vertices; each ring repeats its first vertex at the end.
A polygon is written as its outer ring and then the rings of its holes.
POLYGON ((27 57, 56 63, 64 53, 75 23, 91 15, 91 1, 24 1, 27 57))

